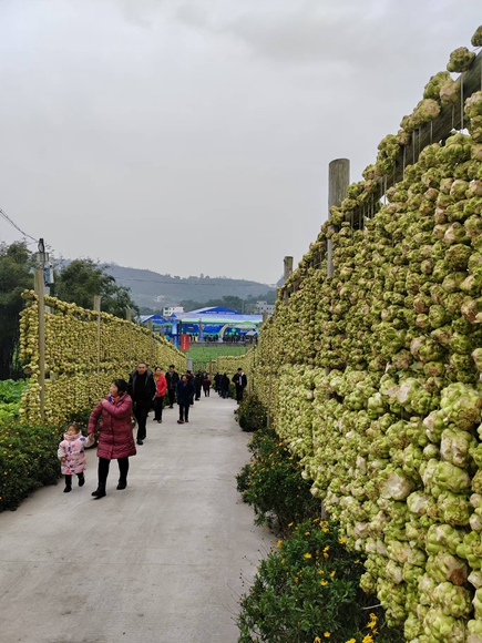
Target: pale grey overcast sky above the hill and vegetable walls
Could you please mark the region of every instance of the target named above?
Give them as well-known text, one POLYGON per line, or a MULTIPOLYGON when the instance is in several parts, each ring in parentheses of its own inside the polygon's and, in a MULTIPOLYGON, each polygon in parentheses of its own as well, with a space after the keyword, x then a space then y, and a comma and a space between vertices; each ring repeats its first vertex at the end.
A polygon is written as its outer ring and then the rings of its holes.
POLYGON ((481 0, 0 0, 0 207, 66 258, 273 284, 328 163, 358 181, 481 23, 481 0))

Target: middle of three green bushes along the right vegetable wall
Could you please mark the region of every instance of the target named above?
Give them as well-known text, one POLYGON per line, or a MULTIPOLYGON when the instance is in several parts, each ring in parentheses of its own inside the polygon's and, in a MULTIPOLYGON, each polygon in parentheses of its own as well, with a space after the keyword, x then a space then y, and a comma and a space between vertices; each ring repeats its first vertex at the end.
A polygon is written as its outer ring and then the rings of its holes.
POLYGON ((248 445, 253 456, 236 476, 243 500, 253 506, 255 524, 279 529, 315 518, 320 501, 310 493, 312 481, 301 478, 299 458, 293 456, 274 429, 257 430, 248 445))

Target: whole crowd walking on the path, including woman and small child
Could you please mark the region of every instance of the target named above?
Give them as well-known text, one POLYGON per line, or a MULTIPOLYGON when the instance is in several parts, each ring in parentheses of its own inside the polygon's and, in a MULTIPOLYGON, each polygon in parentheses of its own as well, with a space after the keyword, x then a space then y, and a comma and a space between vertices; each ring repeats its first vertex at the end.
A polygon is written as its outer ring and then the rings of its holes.
MULTIPOLYGON (((233 377, 233 382, 239 404, 247 386, 247 378, 242 368, 238 368, 233 377)), ((223 375, 216 372, 212 382, 208 372, 203 370, 196 374, 187 370, 180 376, 174 365, 171 365, 166 372, 161 367, 152 371, 144 361, 140 361, 135 370, 131 372, 129 381, 121 378, 112 381, 109 394, 96 405, 90 416, 88 437, 82 435, 79 423, 71 422, 68 426, 58 449, 61 472, 65 477, 64 492, 72 491, 72 476, 74 474, 78 477, 79 487, 85 483, 85 449, 94 446, 100 421, 102 427, 98 438, 98 488, 92 493, 94 499, 106 494, 111 460, 117 460, 116 488, 122 490, 127 487, 129 458, 136 455, 136 445, 142 446, 146 439, 146 423, 151 410, 154 410, 154 421, 162 423, 164 406, 173 409, 174 404, 177 404, 180 409, 177 423, 184 425, 189 421, 189 408, 194 406, 195 400, 201 399, 203 391, 205 397, 209 397, 213 386, 221 397, 227 398, 229 384, 226 372, 223 375), (165 405, 166 401, 168 405, 165 405), (135 440, 133 416, 137 425, 135 440)))

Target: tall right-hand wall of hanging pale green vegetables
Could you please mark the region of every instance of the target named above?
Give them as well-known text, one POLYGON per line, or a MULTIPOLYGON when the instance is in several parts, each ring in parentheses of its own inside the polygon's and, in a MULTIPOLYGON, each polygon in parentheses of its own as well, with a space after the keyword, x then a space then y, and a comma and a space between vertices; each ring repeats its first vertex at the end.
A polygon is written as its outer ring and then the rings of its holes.
POLYGON ((380 143, 281 288, 255 358, 277 432, 367 555, 362 586, 412 643, 482 642, 482 92, 464 85, 474 65, 480 90, 481 54, 457 50, 449 69, 463 79, 433 76, 380 143), (469 133, 434 137, 443 110, 469 133), (423 125, 432 142, 410 164, 423 125))

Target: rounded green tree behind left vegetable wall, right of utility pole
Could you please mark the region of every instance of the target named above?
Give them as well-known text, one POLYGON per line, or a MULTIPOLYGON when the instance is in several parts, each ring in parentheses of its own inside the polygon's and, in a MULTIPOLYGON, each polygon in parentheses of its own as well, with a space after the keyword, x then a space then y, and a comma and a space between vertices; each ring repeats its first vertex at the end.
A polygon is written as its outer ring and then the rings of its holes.
POLYGON ((139 315, 139 307, 132 299, 131 289, 120 286, 104 266, 91 258, 74 259, 62 268, 55 278, 55 296, 82 308, 92 308, 95 295, 102 298, 104 313, 125 318, 125 309, 139 315))

